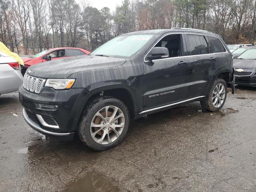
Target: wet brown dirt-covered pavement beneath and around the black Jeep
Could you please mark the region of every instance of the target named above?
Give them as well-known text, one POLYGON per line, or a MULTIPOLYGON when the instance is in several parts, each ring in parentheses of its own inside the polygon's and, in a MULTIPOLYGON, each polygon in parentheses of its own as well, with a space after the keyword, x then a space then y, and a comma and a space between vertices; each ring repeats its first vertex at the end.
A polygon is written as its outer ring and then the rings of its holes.
MULTIPOLYGON (((229 90, 230 92, 230 90, 229 90)), ((256 88, 236 87, 220 112, 199 102, 132 122, 114 149, 46 140, 0 96, 1 192, 255 192, 256 88)))

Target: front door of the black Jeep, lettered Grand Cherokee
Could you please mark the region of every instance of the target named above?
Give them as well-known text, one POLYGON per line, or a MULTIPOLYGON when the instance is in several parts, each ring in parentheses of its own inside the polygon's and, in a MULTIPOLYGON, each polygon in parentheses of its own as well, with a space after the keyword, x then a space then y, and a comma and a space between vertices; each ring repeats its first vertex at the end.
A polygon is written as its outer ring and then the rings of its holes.
POLYGON ((168 34, 154 47, 166 47, 169 57, 144 62, 143 109, 185 100, 187 97, 189 62, 183 56, 183 34, 168 34))

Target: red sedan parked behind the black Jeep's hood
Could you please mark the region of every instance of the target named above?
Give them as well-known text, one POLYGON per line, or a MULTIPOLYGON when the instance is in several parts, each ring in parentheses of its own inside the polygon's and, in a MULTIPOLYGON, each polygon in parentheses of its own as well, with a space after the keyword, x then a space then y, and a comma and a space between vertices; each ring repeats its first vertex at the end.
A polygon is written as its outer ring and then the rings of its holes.
POLYGON ((62 59, 65 57, 88 55, 89 51, 81 48, 72 48, 72 47, 60 47, 52 48, 49 50, 44 50, 30 58, 23 58, 24 67, 21 69, 21 73, 24 76, 27 68, 31 65, 38 64, 41 62, 46 62, 50 60, 62 59))

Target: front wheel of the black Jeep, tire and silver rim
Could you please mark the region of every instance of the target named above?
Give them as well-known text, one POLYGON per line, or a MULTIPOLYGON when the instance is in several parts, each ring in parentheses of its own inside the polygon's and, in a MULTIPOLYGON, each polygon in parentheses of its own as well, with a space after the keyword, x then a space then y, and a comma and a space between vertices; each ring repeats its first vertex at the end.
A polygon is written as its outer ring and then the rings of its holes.
POLYGON ((103 151, 115 147, 123 140, 129 123, 126 105, 116 98, 104 96, 94 99, 86 106, 77 133, 86 146, 103 151), (116 115, 113 117, 114 112, 116 115))

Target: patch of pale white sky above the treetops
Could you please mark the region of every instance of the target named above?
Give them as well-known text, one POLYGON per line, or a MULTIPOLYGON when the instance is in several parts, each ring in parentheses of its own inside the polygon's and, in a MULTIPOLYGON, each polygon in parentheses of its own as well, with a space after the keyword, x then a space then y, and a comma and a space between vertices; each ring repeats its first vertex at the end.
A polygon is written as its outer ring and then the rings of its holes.
POLYGON ((98 10, 103 7, 108 7, 110 8, 110 12, 116 10, 116 5, 122 4, 122 0, 89 0, 89 2, 92 7, 96 7, 98 10))

